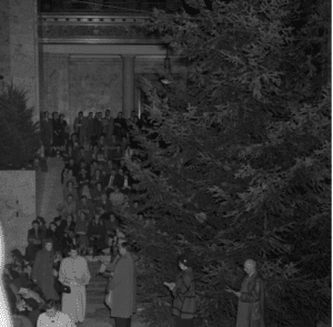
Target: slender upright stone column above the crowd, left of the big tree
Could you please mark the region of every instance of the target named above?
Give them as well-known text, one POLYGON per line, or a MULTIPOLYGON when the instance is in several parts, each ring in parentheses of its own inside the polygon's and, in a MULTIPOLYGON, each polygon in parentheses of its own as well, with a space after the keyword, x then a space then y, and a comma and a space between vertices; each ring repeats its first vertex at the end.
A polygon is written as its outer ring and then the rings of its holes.
POLYGON ((134 60, 135 55, 121 55, 122 58, 122 112, 125 119, 130 117, 135 109, 134 90, 134 60))

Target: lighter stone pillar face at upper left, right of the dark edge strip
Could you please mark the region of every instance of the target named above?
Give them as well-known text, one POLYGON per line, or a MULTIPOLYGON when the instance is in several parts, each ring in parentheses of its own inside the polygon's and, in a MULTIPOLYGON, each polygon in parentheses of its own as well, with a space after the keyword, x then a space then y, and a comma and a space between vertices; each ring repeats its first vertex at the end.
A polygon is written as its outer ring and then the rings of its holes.
POLYGON ((27 92, 28 106, 39 120, 39 47, 37 0, 10 1, 10 78, 27 92))

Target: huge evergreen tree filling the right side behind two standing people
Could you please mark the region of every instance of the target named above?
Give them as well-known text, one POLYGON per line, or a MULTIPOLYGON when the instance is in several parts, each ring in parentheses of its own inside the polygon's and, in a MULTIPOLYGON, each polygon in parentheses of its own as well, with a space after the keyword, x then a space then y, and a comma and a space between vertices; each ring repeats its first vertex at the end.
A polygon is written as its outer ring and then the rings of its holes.
POLYGON ((234 318, 224 288, 240 287, 249 257, 266 279, 268 326, 315 326, 331 294, 330 2, 186 3, 195 17, 155 12, 149 27, 182 51, 186 93, 142 80, 150 124, 137 140, 148 155, 130 163, 157 221, 125 218, 147 317, 171 326, 162 285, 186 251, 198 326, 234 318))

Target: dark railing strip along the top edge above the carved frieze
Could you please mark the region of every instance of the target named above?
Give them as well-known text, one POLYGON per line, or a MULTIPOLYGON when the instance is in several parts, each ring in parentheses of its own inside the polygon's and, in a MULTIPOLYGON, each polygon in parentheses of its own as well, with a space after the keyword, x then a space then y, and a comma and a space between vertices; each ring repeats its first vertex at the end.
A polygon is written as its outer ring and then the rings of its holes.
POLYGON ((179 0, 39 0, 39 12, 143 14, 154 8, 173 12, 179 0))

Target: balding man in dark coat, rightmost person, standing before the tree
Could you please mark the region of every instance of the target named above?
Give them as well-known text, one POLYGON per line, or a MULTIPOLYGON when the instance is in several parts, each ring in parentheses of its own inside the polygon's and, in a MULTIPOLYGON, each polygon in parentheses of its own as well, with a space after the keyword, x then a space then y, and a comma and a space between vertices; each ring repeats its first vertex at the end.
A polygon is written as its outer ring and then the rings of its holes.
POLYGON ((245 260, 244 270, 241 290, 225 289, 239 298, 236 327, 264 327, 264 280, 253 259, 245 260))

